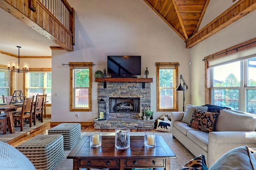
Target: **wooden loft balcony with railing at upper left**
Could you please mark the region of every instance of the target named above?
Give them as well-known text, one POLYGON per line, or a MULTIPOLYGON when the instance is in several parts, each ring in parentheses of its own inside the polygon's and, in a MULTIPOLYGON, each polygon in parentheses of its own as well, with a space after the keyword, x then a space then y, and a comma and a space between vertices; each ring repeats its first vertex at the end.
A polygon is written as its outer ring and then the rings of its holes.
POLYGON ((66 0, 0 0, 0 8, 67 51, 74 51, 75 12, 66 0))

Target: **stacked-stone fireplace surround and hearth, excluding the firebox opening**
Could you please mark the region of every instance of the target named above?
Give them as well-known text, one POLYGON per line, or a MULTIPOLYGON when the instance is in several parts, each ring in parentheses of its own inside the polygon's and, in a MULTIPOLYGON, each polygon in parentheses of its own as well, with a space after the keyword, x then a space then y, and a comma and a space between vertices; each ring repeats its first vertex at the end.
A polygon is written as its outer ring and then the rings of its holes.
POLYGON ((139 120, 138 113, 109 113, 110 97, 139 97, 142 111, 151 108, 151 85, 145 83, 142 89, 142 83, 113 83, 107 82, 107 88, 103 88, 103 83, 98 82, 98 101, 106 101, 107 120, 94 120, 96 129, 115 129, 118 127, 127 127, 130 129, 154 129, 155 120, 139 120))

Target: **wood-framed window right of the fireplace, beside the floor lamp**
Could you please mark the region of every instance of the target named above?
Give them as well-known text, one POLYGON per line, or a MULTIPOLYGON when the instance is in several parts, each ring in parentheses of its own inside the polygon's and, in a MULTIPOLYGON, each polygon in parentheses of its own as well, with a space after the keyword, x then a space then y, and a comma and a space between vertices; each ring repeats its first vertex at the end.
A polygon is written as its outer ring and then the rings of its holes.
POLYGON ((157 111, 178 111, 179 63, 156 63, 157 111))

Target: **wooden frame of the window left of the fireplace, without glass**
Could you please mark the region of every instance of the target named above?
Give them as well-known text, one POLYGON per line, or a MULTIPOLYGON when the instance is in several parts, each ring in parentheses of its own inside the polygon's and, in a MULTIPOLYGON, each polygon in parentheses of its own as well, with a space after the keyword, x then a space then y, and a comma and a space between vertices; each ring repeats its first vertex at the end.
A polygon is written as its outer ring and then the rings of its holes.
POLYGON ((70 111, 92 111, 92 62, 70 62, 70 111), (89 88, 88 88, 88 109, 74 108, 74 80, 73 70, 74 67, 85 67, 89 69, 89 88))

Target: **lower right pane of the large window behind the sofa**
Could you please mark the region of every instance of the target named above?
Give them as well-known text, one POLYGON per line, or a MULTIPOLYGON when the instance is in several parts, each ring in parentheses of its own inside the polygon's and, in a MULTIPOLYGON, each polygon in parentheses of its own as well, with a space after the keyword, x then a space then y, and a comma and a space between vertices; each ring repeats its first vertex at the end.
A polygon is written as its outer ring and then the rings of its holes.
POLYGON ((256 114, 256 90, 247 90, 246 112, 256 114))

